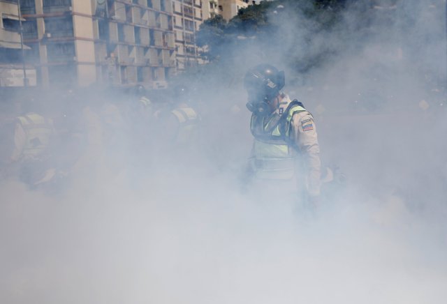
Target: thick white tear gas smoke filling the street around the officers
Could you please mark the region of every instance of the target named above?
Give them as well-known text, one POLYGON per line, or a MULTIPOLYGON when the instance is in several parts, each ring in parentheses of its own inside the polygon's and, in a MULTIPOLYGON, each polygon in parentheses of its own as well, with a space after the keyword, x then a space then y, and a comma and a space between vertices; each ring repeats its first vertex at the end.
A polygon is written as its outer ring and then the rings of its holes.
MULTIPOLYGON (((186 89, 36 94, 58 141, 28 183, 1 181, 0 302, 445 303, 446 3, 353 1, 317 29, 287 7, 301 2, 268 8, 280 45, 241 32, 221 50, 226 69, 186 89), (242 77, 266 61, 314 114, 323 162, 346 176, 316 211, 241 191, 242 77), (173 144, 179 102, 197 110, 193 146, 173 144)), ((10 143, 22 112, 3 106, 10 143)))

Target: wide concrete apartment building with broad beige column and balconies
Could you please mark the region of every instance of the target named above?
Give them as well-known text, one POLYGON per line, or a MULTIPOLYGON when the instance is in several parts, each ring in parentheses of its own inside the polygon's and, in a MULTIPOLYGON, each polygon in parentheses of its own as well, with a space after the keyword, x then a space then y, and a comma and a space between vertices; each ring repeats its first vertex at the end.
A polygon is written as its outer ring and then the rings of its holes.
POLYGON ((166 86, 175 69, 171 0, 22 0, 28 59, 43 86, 166 86))

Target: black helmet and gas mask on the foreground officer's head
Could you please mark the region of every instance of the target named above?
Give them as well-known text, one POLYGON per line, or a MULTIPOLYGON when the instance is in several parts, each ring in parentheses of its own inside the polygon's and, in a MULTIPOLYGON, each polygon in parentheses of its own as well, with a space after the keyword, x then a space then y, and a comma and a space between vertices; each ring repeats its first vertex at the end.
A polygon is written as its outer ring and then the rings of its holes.
POLYGON ((279 71, 270 64, 260 64, 247 71, 244 88, 249 94, 247 108, 256 114, 269 114, 269 102, 284 87, 284 71, 279 71))

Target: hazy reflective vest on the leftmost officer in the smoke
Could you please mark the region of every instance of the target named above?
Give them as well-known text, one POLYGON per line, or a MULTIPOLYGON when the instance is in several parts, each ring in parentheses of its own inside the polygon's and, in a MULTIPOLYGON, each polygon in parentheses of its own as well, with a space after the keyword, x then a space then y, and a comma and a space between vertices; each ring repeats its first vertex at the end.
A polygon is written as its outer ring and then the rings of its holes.
POLYGON ((41 158, 50 143, 53 132, 52 121, 36 113, 19 116, 17 119, 27 135, 22 158, 25 160, 41 158))

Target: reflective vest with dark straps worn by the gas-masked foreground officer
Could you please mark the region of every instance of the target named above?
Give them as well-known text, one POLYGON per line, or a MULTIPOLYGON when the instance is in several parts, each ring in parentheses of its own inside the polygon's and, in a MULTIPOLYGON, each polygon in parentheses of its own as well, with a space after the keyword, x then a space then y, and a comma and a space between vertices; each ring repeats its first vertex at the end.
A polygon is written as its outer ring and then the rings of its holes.
POLYGON ((295 176, 298 147, 290 137, 294 114, 305 112, 301 102, 290 102, 284 114, 251 116, 250 130, 254 136, 251 165, 257 178, 291 179, 295 176))

